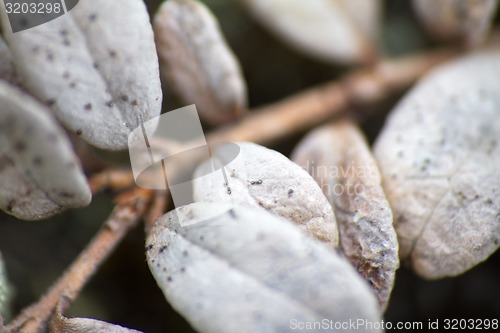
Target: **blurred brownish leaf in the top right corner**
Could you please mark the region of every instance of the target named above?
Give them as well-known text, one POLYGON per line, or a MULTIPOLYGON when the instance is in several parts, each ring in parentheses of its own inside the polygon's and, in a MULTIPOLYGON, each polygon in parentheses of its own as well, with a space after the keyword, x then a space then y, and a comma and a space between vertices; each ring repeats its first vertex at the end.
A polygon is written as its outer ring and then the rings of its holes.
POLYGON ((470 46, 488 33, 497 5, 498 0, 413 0, 417 15, 434 37, 470 46))

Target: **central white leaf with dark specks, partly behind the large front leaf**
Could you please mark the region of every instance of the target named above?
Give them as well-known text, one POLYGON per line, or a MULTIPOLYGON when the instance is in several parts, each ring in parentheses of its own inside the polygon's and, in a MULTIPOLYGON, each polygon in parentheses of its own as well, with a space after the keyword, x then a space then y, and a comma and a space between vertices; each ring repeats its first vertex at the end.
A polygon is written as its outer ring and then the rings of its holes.
POLYGON ((314 179, 277 151, 249 142, 238 145, 238 157, 225 167, 228 185, 221 172, 209 172, 210 162, 196 170, 193 180, 195 201, 262 207, 336 248, 335 215, 314 179))

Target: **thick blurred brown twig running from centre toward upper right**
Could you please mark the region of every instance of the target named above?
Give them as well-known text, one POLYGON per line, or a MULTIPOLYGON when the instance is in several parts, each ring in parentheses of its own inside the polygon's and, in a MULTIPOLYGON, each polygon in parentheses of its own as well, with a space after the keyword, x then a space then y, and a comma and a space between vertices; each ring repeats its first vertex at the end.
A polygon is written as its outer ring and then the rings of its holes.
POLYGON ((232 127, 209 134, 207 139, 210 143, 251 141, 267 144, 300 133, 341 115, 353 105, 376 103, 408 89, 430 69, 458 53, 458 50, 448 49, 381 61, 340 81, 256 109, 232 127))

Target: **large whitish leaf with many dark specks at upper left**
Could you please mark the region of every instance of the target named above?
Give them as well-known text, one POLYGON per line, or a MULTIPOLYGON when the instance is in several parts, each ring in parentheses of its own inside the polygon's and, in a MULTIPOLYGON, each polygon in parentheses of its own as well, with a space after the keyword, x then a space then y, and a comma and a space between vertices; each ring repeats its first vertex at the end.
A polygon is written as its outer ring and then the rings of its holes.
POLYGON ((124 149, 133 129, 159 115, 158 60, 143 1, 80 1, 65 15, 14 34, 2 14, 28 90, 89 143, 124 149))

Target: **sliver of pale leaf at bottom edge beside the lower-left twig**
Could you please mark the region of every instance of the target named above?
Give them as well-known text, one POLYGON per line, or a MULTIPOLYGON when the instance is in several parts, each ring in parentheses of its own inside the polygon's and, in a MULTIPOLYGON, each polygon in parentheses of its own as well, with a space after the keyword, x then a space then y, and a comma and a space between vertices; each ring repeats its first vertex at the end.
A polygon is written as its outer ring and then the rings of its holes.
POLYGON ((139 331, 90 318, 55 316, 51 333, 141 333, 139 331))

